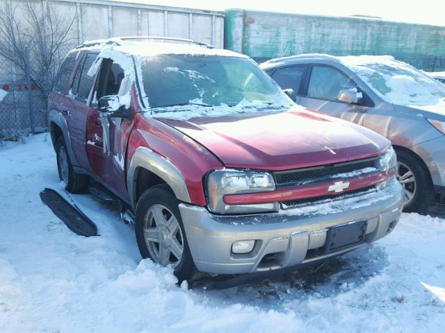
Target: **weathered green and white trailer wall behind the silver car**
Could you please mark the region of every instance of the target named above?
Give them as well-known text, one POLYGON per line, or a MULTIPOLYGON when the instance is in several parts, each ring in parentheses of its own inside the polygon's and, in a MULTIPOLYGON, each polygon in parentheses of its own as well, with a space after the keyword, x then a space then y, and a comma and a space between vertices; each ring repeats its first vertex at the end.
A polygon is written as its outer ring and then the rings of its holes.
POLYGON ((225 47, 257 60, 301 53, 388 54, 420 69, 445 69, 445 26, 253 10, 225 14, 225 47))

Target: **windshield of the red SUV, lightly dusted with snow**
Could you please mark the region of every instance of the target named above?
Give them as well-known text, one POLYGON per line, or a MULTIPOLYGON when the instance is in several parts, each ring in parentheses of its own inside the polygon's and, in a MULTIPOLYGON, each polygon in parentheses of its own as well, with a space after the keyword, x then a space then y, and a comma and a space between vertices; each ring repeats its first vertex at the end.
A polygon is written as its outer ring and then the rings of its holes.
MULTIPOLYGON (((161 55, 143 61, 143 85, 151 108, 273 108, 289 99, 247 58, 161 55)), ((171 110, 155 110, 165 112, 171 110)))

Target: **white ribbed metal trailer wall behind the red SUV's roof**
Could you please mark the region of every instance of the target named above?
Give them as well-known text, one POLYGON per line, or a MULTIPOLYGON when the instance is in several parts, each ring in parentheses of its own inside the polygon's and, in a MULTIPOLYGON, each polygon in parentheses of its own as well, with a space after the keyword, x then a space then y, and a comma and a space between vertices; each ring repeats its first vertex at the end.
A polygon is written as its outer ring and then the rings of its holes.
POLYGON ((77 44, 98 38, 181 37, 223 47, 223 12, 102 0, 49 0, 60 13, 76 13, 77 44))

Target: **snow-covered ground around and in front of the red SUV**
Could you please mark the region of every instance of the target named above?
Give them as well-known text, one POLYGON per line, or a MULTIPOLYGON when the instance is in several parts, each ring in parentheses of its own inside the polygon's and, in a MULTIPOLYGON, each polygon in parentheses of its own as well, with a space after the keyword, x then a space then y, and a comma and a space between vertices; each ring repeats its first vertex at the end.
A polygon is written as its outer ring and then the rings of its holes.
MULTIPOLYGON (((133 228, 72 196, 100 237, 44 206, 61 189, 49 135, 0 142, 0 332, 444 332, 445 220, 403 214, 376 244, 226 291, 175 285, 140 260, 133 228)), ((442 210, 445 217, 444 210, 442 210)))

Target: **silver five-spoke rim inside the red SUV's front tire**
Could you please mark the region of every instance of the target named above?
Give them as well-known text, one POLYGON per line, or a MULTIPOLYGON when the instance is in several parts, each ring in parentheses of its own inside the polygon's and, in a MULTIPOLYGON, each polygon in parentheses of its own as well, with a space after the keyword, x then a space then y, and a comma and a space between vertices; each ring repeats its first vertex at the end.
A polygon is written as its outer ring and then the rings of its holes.
POLYGON ((162 266, 178 266, 184 253, 184 237, 179 223, 164 205, 152 205, 144 219, 144 239, 154 261, 162 266))

